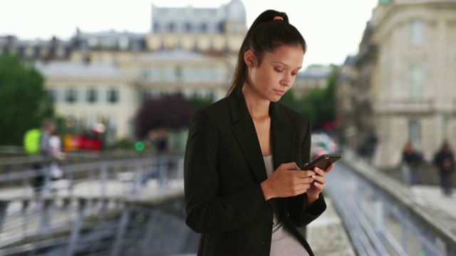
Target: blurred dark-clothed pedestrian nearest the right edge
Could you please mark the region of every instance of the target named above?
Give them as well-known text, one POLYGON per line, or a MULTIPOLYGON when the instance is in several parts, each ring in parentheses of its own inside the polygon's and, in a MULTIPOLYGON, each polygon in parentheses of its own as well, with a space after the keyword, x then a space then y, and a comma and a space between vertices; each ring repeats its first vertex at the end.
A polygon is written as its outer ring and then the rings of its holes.
POLYGON ((440 186, 445 196, 452 195, 452 176, 455 173, 455 154, 450 143, 445 141, 434 156, 434 164, 437 166, 440 176, 440 186))

